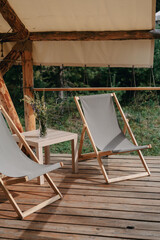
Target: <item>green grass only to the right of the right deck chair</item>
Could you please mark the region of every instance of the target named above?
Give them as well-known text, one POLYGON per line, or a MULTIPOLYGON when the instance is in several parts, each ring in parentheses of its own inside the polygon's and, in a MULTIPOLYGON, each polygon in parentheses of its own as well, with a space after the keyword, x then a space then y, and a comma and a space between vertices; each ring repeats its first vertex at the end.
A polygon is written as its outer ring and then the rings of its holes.
MULTIPOLYGON (((160 154, 160 106, 153 93, 137 95, 132 105, 124 107, 130 126, 139 145, 151 144, 152 149, 144 150, 144 155, 160 154)), ((133 152, 132 154, 136 154, 133 152)))

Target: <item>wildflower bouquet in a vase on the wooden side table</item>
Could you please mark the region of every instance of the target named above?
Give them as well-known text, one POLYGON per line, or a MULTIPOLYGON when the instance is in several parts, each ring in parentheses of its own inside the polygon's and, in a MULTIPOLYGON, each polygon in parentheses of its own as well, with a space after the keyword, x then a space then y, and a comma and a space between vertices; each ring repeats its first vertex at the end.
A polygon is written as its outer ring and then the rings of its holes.
POLYGON ((39 122, 40 137, 45 137, 47 134, 47 107, 45 105, 44 96, 40 98, 39 94, 35 93, 34 98, 25 95, 23 100, 31 105, 35 117, 39 122))

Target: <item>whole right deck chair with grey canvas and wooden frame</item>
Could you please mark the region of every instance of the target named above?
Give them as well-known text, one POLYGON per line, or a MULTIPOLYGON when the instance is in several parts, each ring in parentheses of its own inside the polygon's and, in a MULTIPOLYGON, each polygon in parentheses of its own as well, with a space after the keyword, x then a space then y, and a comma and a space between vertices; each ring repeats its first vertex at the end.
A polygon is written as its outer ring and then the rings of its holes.
POLYGON ((151 145, 138 146, 115 93, 75 97, 75 102, 83 121, 83 129, 78 152, 79 160, 96 157, 107 183, 150 175, 149 168, 140 150, 151 148, 151 145), (117 120, 113 98, 124 121, 123 131, 121 130, 117 120), (128 130, 133 143, 126 138, 126 130, 128 130), (93 153, 82 154, 85 132, 87 132, 91 141, 94 149, 93 153), (132 151, 138 152, 145 171, 130 174, 129 176, 114 177, 109 179, 101 157, 132 151))

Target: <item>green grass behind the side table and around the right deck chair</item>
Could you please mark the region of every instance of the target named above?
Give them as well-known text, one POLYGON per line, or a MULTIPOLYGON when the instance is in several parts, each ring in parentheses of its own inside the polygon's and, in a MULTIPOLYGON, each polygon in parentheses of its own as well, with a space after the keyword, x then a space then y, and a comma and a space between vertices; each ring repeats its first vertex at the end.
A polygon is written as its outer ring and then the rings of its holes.
MULTIPOLYGON (((153 92, 144 95, 138 93, 136 99, 129 104, 123 104, 125 115, 129 119, 132 131, 139 145, 152 144, 152 149, 144 150, 145 155, 160 154, 160 106, 157 96, 153 92)), ((64 100, 50 100, 48 105, 49 125, 52 128, 78 133, 79 138, 82 130, 82 121, 76 109, 73 98, 68 97, 64 100)), ((124 123, 120 113, 117 111, 120 125, 123 129, 124 123)), ((128 137, 129 134, 127 133, 128 137)), ((70 142, 53 145, 53 152, 71 153, 70 142)), ((83 152, 93 151, 88 137, 85 137, 83 152)), ((137 154, 136 152, 132 153, 137 154)))

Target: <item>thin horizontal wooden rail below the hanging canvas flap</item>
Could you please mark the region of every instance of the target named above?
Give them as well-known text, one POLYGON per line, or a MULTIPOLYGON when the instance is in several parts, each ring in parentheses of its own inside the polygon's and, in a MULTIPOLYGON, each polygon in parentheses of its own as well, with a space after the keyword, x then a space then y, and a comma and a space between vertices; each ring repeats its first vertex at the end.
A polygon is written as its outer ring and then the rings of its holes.
POLYGON ((160 87, 84 87, 84 88, 33 88, 37 92, 50 91, 157 91, 160 87))

